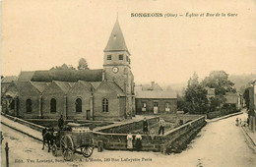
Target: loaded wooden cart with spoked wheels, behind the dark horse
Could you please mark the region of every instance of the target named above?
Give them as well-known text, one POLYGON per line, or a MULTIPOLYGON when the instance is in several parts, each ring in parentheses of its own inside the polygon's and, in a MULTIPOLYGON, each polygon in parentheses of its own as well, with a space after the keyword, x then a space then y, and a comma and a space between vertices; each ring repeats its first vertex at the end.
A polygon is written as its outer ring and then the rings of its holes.
POLYGON ((68 128, 55 132, 52 154, 57 155, 57 150, 65 160, 71 160, 72 155, 80 149, 85 157, 90 157, 94 151, 93 132, 81 124, 69 123, 68 128))

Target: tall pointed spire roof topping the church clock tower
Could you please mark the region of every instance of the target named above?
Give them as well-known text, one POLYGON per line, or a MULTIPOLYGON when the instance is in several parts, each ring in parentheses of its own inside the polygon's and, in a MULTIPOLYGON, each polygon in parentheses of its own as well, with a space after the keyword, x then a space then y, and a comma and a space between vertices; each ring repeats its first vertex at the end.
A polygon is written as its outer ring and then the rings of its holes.
POLYGON ((114 28, 112 29, 112 32, 104 49, 104 52, 109 51, 127 51, 128 54, 130 54, 126 46, 122 30, 119 26, 118 19, 116 19, 114 28))

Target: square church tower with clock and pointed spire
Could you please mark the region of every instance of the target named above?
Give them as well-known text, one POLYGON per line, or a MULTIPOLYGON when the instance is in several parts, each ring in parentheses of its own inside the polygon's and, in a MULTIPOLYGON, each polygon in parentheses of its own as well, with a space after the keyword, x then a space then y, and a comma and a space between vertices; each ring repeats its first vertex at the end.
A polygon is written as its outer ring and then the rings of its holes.
POLYGON ((117 19, 104 49, 103 79, 117 83, 125 92, 127 118, 135 115, 134 77, 130 57, 117 19))

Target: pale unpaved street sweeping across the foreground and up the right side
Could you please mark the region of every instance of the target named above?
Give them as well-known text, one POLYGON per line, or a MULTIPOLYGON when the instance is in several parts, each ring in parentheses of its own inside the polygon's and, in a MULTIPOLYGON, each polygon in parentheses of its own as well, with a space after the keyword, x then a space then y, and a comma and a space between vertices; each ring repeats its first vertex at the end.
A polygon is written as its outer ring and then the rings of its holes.
MULTIPOLYGON (((253 167, 256 155, 248 147, 236 118, 246 114, 208 123, 180 154, 163 155, 160 152, 109 151, 97 152, 86 159, 74 155, 73 162, 63 162, 61 155, 53 157, 42 143, 18 133, 4 125, 4 141, 9 142, 10 166, 202 166, 202 167, 253 167), (16 161, 16 162, 15 162, 16 161)), ((4 166, 5 150, 1 147, 1 165, 4 166)))

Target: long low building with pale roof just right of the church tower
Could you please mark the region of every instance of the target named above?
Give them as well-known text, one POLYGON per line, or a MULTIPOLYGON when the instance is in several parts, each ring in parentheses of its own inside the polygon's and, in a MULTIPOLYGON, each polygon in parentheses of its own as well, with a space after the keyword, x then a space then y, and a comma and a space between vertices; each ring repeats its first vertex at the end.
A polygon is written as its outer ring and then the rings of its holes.
POLYGON ((143 90, 135 86, 136 114, 176 113, 177 95, 170 90, 143 90))

